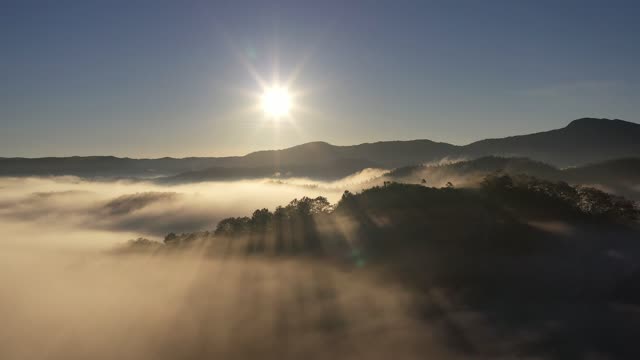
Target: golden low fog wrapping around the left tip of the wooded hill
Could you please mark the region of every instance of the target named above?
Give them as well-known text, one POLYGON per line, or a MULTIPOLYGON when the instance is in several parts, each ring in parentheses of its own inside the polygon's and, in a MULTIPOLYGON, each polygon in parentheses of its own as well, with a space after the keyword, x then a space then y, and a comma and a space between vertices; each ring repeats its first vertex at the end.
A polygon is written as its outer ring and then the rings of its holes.
POLYGON ((335 202, 359 182, 1 179, 0 358, 454 357, 440 330, 415 319, 408 290, 370 275, 198 249, 111 251, 138 236, 212 229, 222 217, 296 197, 335 202))

